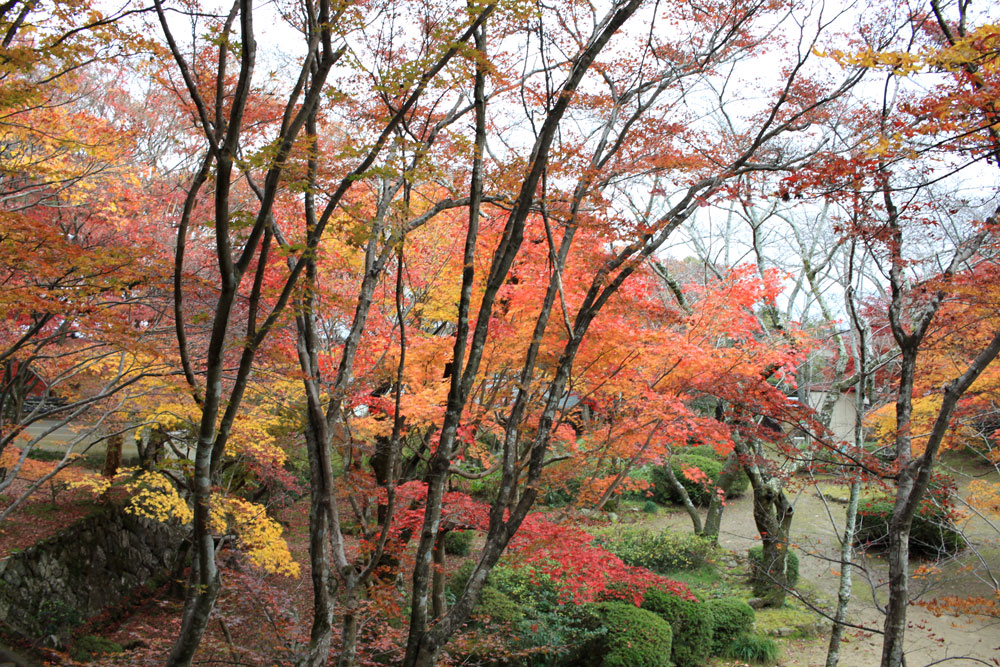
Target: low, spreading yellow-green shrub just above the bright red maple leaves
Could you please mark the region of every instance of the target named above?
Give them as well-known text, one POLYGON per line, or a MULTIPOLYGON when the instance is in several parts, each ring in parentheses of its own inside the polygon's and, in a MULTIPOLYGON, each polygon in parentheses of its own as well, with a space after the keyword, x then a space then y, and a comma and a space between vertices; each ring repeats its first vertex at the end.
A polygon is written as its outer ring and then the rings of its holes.
POLYGON ((626 564, 667 574, 697 570, 715 560, 718 547, 692 533, 615 526, 594 531, 594 539, 626 564))

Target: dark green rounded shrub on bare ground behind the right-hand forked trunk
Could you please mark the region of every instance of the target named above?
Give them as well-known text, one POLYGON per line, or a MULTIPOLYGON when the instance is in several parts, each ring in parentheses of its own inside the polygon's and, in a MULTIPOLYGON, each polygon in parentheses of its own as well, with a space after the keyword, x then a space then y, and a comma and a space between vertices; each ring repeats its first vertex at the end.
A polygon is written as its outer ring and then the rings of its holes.
MULTIPOLYGON (((950 477, 934 474, 920 507, 913 515, 910 527, 910 552, 919 556, 937 557, 954 554, 965 548, 965 539, 955 526, 955 482, 950 477)), ((893 498, 876 496, 862 499, 858 507, 855 541, 866 549, 889 547, 889 519, 893 498)))

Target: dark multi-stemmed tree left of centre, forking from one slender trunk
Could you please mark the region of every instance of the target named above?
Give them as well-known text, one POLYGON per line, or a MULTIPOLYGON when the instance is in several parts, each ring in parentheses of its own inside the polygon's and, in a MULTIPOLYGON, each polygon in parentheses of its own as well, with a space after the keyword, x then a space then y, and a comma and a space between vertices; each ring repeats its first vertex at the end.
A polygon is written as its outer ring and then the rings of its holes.
MULTIPOLYGON (((345 194, 358 177, 374 165, 394 129, 407 118, 428 83, 455 55, 458 45, 471 36, 475 26, 491 11, 486 7, 471 14, 464 8, 456 12, 452 24, 442 29, 447 34, 429 50, 422 65, 413 68, 398 61, 392 63, 392 72, 386 73, 385 80, 393 81, 392 86, 401 86, 397 89, 400 91, 398 106, 392 106, 388 116, 374 121, 381 129, 374 130, 371 141, 358 149, 357 159, 347 160, 348 164, 342 165, 339 173, 332 177, 334 184, 324 196, 315 225, 308 226, 300 238, 294 239, 300 245, 297 252, 292 250, 292 261, 284 275, 265 281, 270 269, 280 270, 280 265, 269 262, 275 237, 280 234, 275 226, 275 202, 288 187, 289 179, 294 178, 289 174, 297 142, 313 122, 310 119, 315 117, 322 100, 327 99, 324 94, 329 90, 327 76, 346 52, 346 46, 338 43, 353 26, 352 21, 345 18, 345 12, 350 9, 347 6, 321 1, 302 3, 299 9, 298 25, 305 53, 299 61, 299 69, 292 74, 291 85, 285 93, 286 101, 277 106, 258 106, 255 102, 261 94, 255 83, 260 76, 257 73, 258 34, 251 3, 236 3, 228 14, 220 16, 206 18, 198 12, 189 14, 191 20, 204 18, 212 33, 212 44, 196 45, 193 58, 177 41, 171 24, 173 13, 161 3, 156 4, 160 27, 174 61, 174 80, 191 105, 206 149, 201 166, 187 188, 187 199, 178 222, 175 275, 181 275, 184 270, 186 241, 199 193, 211 176, 209 229, 215 240, 215 260, 221 284, 210 310, 212 329, 207 348, 193 358, 187 345, 183 285, 180 281, 175 282, 175 319, 181 359, 192 396, 200 407, 200 426, 191 480, 194 501, 191 579, 181 633, 169 664, 190 663, 221 586, 211 523, 212 484, 240 410, 257 351, 293 297, 308 258, 315 252, 345 194), (235 77, 231 74, 233 70, 235 77), (269 110, 277 113, 262 118, 252 126, 256 129, 249 131, 250 119, 269 110), (250 155, 257 157, 247 162, 250 155), (244 182, 256 195, 255 202, 241 201, 235 196, 238 184, 244 182), (245 207, 242 211, 236 208, 241 205, 245 207), (270 298, 265 294, 265 283, 273 290, 270 298), (234 319, 238 302, 246 303, 247 307, 241 318, 234 319), (237 371, 230 380, 225 378, 224 371, 234 338, 241 342, 236 343, 237 371), (198 376, 204 377, 204 381, 198 376)), ((373 11, 377 14, 380 10, 373 8, 373 11)))

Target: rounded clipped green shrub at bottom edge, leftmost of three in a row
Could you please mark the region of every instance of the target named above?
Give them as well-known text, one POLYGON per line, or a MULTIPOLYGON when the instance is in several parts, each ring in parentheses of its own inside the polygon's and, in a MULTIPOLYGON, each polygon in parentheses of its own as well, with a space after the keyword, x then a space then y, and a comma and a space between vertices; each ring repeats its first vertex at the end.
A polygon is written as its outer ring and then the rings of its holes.
POLYGON ((670 667, 670 624, 627 602, 597 602, 583 609, 584 626, 603 630, 572 662, 586 667, 670 667))

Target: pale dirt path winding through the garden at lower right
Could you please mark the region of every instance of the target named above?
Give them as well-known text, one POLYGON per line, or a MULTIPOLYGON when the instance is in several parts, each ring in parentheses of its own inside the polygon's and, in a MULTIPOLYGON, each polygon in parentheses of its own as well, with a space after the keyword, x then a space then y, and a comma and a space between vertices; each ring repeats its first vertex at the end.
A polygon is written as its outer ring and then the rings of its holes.
MULTIPOLYGON (((964 486, 960 483, 960 488, 964 486)), ((803 486, 794 494, 795 519, 792 539, 799 555, 800 578, 827 600, 836 598, 839 570, 836 560, 839 542, 835 530, 842 530, 844 506, 824 504, 815 487, 803 486), (837 522, 835 529, 831 516, 837 522)), ((658 516, 653 525, 691 530, 691 520, 683 511, 671 511, 658 516)), ((1000 547, 996 531, 973 517, 965 526, 967 534, 984 544, 980 553, 994 570, 1000 571, 1000 547)), ((758 543, 754 527, 750 495, 729 501, 723 515, 720 544, 737 553, 758 543)), ((916 563, 915 565, 920 565, 916 563)), ((992 595, 993 588, 979 575, 977 558, 969 551, 957 560, 946 563, 940 572, 915 579, 913 590, 922 592, 921 599, 942 595, 992 595)), ((848 610, 848 621, 864 627, 881 629, 883 616, 875 599, 885 601, 885 581, 888 565, 877 558, 862 558, 855 568, 854 592, 848 610)), ((907 665, 923 667, 931 664, 1000 665, 1000 619, 973 616, 935 617, 925 609, 911 606, 906 634, 907 665), (997 660, 997 662, 994 662, 997 660)), ((823 665, 826 660, 828 635, 821 640, 792 640, 786 644, 782 665, 823 665)), ((851 631, 841 648, 840 665, 869 667, 877 665, 881 656, 881 635, 851 631)))

